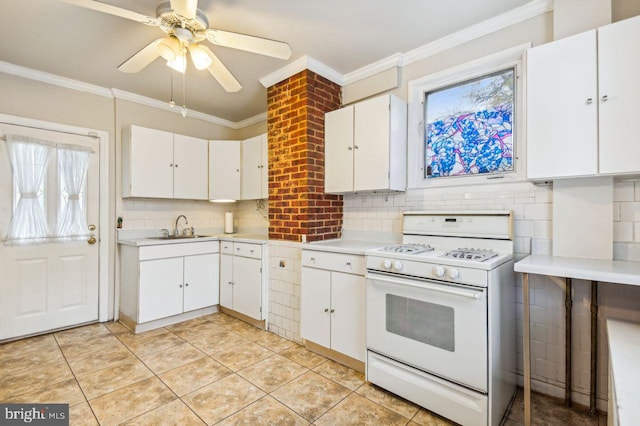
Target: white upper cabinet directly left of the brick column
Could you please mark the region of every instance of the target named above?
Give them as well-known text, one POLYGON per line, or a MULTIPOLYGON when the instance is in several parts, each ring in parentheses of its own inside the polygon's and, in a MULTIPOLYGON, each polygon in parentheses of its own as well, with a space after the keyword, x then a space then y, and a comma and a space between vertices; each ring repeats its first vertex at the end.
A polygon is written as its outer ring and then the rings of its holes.
POLYGON ((269 160, 267 135, 242 141, 242 199, 269 197, 269 160))

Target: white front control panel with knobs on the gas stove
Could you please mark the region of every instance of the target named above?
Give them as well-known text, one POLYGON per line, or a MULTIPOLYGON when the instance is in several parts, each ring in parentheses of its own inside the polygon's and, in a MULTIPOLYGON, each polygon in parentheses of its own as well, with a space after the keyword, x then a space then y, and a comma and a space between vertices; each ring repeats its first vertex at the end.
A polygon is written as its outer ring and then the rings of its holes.
POLYGON ((409 275, 425 279, 450 281, 478 286, 487 285, 487 271, 464 266, 439 265, 412 260, 366 256, 367 269, 409 275))

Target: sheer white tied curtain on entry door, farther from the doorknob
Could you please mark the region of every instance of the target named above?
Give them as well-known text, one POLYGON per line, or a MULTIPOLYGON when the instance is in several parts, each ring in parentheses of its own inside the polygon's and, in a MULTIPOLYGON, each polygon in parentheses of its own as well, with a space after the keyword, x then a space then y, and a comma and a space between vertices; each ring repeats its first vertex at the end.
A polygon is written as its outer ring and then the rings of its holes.
POLYGON ((25 136, 6 135, 7 152, 18 187, 18 202, 6 239, 13 244, 41 243, 47 237, 47 221, 39 192, 53 143, 25 136))

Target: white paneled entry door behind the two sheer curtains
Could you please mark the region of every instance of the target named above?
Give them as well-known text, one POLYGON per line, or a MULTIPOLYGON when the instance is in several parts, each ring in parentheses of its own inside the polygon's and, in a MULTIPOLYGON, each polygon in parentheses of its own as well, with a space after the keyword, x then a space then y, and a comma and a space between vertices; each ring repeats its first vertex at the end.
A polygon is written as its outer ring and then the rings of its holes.
MULTIPOLYGON (((6 238, 19 195, 7 143, 0 142, 0 340, 97 321, 101 167, 98 139, 10 125, 0 125, 0 134, 51 143, 46 177, 37 193, 48 225, 47 242, 15 245, 6 238), (68 164, 62 148, 90 152, 81 192, 71 197, 82 206, 89 226, 80 231, 81 236, 68 240, 56 236, 58 218, 71 202, 68 188, 64 188, 66 178, 60 178, 58 162, 68 164)), ((13 241, 16 242, 25 240, 13 241)))

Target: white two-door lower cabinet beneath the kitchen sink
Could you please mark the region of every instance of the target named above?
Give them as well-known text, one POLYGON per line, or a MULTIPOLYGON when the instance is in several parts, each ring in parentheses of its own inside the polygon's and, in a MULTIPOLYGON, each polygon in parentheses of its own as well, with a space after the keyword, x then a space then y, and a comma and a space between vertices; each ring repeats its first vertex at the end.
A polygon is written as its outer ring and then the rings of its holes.
POLYGON ((219 303, 218 241, 123 245, 120 253, 120 316, 135 331, 139 331, 138 324, 219 303))

